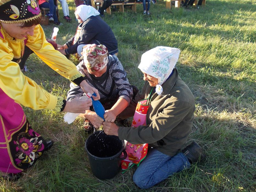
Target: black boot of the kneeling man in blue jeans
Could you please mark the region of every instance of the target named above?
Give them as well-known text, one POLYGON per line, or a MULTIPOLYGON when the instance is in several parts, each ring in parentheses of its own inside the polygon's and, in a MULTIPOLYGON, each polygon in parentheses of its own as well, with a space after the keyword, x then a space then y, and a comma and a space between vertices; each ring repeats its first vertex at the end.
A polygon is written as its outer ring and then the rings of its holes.
POLYGON ((205 158, 202 148, 194 141, 183 149, 182 153, 189 159, 190 163, 202 161, 205 158))

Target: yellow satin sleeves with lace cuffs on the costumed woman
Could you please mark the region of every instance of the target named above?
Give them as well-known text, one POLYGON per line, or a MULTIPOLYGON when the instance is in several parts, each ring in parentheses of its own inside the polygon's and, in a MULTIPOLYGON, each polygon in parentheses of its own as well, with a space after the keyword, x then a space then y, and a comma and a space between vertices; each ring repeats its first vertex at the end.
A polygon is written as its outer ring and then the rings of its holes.
MULTIPOLYGON (((2 35, 4 36, 4 33, 2 35)), ((12 61, 13 53, 9 46, 12 43, 8 38, 0 38, 0 88, 23 106, 60 111, 63 98, 48 93, 35 81, 26 77, 20 71, 18 63, 12 61)), ((40 25, 36 26, 34 35, 29 36, 27 45, 47 65, 64 77, 72 80, 81 76, 75 65, 46 41, 40 25)))

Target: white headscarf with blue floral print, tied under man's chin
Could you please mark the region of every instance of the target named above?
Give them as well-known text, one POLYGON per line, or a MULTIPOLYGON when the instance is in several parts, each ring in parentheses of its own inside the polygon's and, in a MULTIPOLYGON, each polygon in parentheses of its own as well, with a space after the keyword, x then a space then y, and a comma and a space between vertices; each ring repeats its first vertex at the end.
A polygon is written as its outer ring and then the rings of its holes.
POLYGON ((141 56, 138 68, 158 79, 156 92, 161 95, 163 92, 162 84, 171 74, 176 62, 179 58, 180 50, 172 47, 155 47, 145 52, 141 56))

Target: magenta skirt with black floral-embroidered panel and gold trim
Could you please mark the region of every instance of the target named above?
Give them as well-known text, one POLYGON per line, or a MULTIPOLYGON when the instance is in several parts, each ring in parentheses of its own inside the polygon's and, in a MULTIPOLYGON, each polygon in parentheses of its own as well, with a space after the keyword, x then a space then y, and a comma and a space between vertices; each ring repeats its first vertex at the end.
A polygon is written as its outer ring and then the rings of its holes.
POLYGON ((20 173, 43 154, 45 140, 29 125, 22 107, 0 89, 0 175, 20 173))

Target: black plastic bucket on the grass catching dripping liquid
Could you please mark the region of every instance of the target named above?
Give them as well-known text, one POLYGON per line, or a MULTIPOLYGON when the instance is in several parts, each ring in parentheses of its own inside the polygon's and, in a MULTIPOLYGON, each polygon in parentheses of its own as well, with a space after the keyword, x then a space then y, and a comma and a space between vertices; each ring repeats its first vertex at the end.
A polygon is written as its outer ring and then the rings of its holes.
POLYGON ((92 173, 99 179, 111 179, 120 171, 121 160, 126 159, 124 141, 103 131, 91 134, 85 142, 92 173), (124 157, 120 158, 121 154, 124 157))

